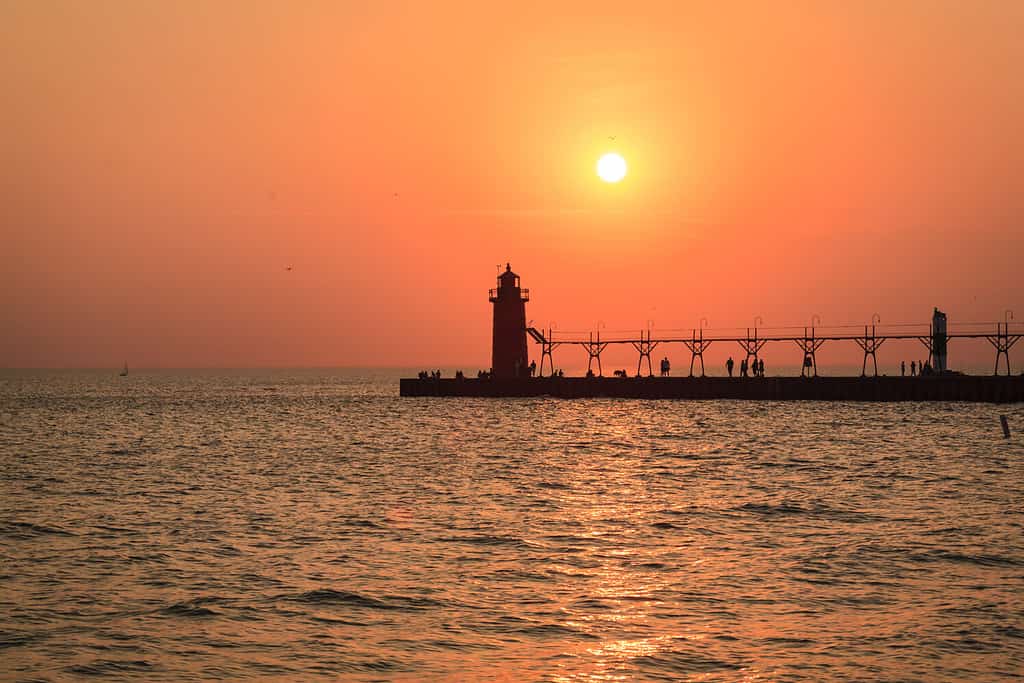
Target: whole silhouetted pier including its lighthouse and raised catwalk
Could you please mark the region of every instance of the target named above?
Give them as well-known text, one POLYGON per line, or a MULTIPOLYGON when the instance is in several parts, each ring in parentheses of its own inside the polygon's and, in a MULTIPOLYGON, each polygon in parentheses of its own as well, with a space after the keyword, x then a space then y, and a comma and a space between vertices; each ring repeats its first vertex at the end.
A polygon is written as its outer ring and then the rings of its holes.
MULTIPOLYGON (((1002 323, 950 325, 936 308, 930 324, 882 326, 878 315, 864 326, 811 325, 803 328, 752 328, 709 331, 703 325, 688 331, 668 331, 654 336, 651 329, 637 334, 602 337, 600 330, 583 334, 560 334, 539 330, 526 323, 529 290, 520 287, 519 275, 506 265, 498 287, 488 292, 494 304, 492 369, 476 379, 421 376, 402 379, 403 396, 561 396, 566 398, 608 396, 622 398, 735 398, 760 400, 965 400, 990 402, 1024 401, 1024 375, 1013 375, 1010 350, 1024 337, 1024 324, 1012 323, 1006 311, 1002 323), (529 362, 527 337, 541 351, 540 364, 529 362), (991 376, 968 376, 948 368, 949 343, 957 340, 987 341, 995 351, 991 376), (910 376, 879 375, 878 352, 890 340, 912 340, 923 345, 927 360, 911 365, 910 376), (745 368, 757 368, 767 344, 791 346, 802 357, 799 377, 748 376, 745 368), (817 352, 825 343, 854 343, 862 351, 859 377, 820 377, 817 352), (655 349, 680 345, 689 352, 686 377, 669 377, 662 368, 655 377, 651 354, 655 349), (732 377, 708 377, 703 354, 712 345, 735 345, 738 367, 732 377), (628 345, 637 352, 636 375, 624 371, 604 377, 601 354, 611 345, 628 345), (586 353, 587 376, 563 377, 555 371, 554 352, 560 347, 579 347, 586 353), (1000 370, 1005 369, 1005 374, 1000 370), (547 371, 547 374, 545 373, 547 371), (868 374, 870 373, 870 374, 868 374)), ((816 317, 816 316, 815 316, 816 317)), ((756 323, 760 321, 757 318, 756 323)), ((812 318, 812 322, 813 318, 812 318)), ((818 321, 819 323, 819 321, 818 321)), ((795 357, 795 359, 796 359, 795 357)))

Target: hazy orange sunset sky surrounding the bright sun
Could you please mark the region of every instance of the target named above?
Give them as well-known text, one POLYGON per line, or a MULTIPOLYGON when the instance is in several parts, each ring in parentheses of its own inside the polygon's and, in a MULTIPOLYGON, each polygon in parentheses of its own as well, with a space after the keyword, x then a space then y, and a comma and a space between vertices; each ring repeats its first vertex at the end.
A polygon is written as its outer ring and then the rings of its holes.
POLYGON ((1024 3, 494 4, 0 5, 0 366, 1024 318, 1024 3))

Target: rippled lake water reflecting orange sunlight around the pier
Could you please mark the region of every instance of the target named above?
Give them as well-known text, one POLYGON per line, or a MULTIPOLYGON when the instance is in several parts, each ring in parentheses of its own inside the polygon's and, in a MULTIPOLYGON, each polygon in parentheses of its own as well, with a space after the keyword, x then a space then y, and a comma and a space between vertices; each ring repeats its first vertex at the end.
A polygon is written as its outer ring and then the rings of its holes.
POLYGON ((1024 673, 1024 407, 397 377, 0 374, 0 677, 1024 673))

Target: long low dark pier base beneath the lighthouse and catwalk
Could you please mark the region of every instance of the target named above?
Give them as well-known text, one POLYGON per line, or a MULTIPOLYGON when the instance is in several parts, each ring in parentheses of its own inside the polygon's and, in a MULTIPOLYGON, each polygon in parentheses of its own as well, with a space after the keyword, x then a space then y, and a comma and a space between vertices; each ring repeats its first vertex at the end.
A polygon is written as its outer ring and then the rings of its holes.
POLYGON ((402 396, 1024 401, 1024 376, 402 379, 402 396))

